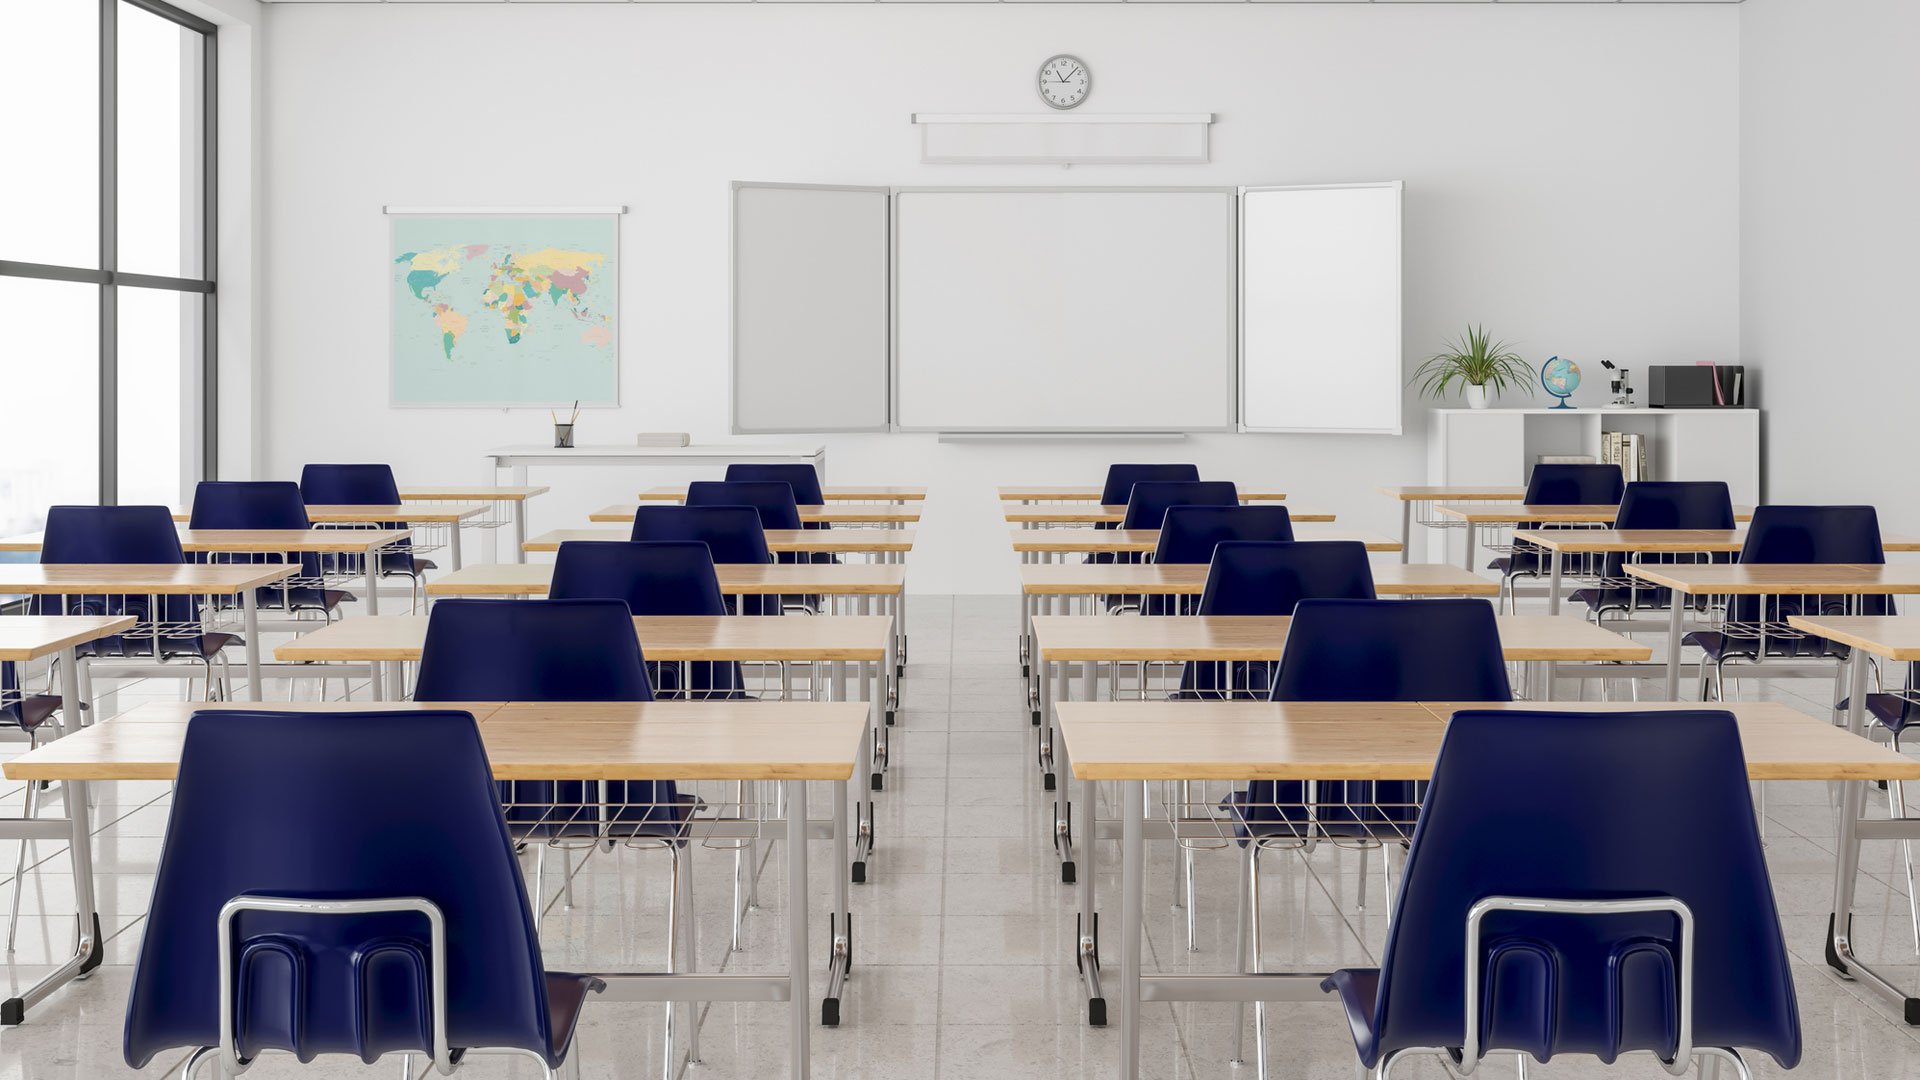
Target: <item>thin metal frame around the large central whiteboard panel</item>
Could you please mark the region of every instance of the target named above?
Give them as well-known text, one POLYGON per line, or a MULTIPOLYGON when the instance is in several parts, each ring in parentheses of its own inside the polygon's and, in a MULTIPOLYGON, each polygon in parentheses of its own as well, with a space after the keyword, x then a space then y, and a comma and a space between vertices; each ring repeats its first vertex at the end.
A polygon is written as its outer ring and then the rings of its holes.
POLYGON ((1240 277, 1240 192, 1244 188, 1236 186, 1165 186, 1165 184, 1094 184, 1094 186, 1043 186, 1043 184, 927 184, 927 186, 897 186, 893 196, 887 200, 887 411, 893 417, 893 430, 902 432, 941 432, 941 434, 1148 434, 1148 432, 1233 432, 1240 430, 1240 377, 1242 367, 1240 354, 1240 290, 1238 284, 1233 292, 1229 319, 1229 332, 1235 342, 1235 379, 1227 380, 1227 415, 1231 417, 1221 427, 906 427, 900 423, 900 325, 895 319, 895 311, 900 309, 900 196, 902 194, 1223 194, 1229 196, 1229 227, 1233 229, 1233 244, 1227 248, 1227 259, 1233 267, 1233 277, 1238 282, 1240 277))

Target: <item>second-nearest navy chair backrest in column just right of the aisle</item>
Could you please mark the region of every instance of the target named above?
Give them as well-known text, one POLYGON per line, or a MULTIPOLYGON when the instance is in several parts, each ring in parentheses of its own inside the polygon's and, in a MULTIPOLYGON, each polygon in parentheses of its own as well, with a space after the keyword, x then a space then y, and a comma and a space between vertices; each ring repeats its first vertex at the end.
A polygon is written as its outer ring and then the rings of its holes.
POLYGON ((1486 600, 1302 600, 1275 701, 1511 701, 1486 600))

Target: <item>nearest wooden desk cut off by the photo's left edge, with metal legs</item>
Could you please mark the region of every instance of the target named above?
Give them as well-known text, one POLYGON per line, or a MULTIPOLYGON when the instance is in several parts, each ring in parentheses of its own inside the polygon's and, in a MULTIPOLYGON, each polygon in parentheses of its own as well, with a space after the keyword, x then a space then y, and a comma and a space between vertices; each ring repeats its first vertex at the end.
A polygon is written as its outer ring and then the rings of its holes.
MULTIPOLYGON (((81 661, 79 646, 111 638, 134 626, 132 615, 4 615, 0 617, 0 661, 25 663, 40 657, 58 657, 60 673, 60 711, 52 717, 54 736, 65 740, 83 723, 81 661)), ((21 680, 23 684, 25 680, 21 680)), ((0 701, 4 705, 8 701, 0 701)), ((36 740, 38 742, 38 740, 36 740)), ((56 744, 58 746, 58 744, 56 744)), ((29 796, 31 799, 31 796, 29 796)), ((81 978, 100 963, 102 942, 100 913, 94 905, 94 861, 92 819, 86 784, 73 784, 61 792, 61 817, 50 807, 36 807, 19 817, 0 817, 0 840, 17 840, 21 847, 29 840, 63 842, 67 847, 67 871, 73 874, 73 897, 77 915, 77 934, 73 955, 54 967, 44 978, 0 1001, 0 1024, 19 1024, 27 1019, 27 1009, 44 1001, 61 986, 81 978)), ((19 884, 15 882, 15 888, 19 884)), ((19 978, 13 980, 19 984, 19 978)))

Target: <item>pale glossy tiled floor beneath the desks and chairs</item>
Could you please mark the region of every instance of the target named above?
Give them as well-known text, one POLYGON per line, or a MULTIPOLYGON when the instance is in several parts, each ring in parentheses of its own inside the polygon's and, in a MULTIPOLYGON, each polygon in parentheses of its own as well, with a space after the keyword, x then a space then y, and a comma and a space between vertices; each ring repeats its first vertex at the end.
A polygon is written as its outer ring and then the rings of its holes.
MULTIPOLYGON (((814 1076, 822 1078, 1041 1078, 1114 1076, 1114 1028, 1089 1028, 1071 965, 1073 892, 1060 884, 1046 846, 1052 794, 1041 790, 1031 761, 1033 728, 1021 709, 1018 667, 1012 661, 1016 605, 1012 598, 916 598, 912 603, 912 663, 895 767, 879 796, 879 855, 872 884, 854 886, 856 967, 841 1028, 812 1028, 814 1076)), ((338 684, 334 684, 338 686, 338 684)), ((1741 694, 1772 694, 1818 715, 1818 696, 1830 682, 1757 682, 1741 694)), ((1571 684, 1569 688, 1571 690, 1571 684)), ((315 688, 301 684, 301 696, 315 688)), ((104 701, 104 713, 132 701, 177 696, 177 684, 136 684, 104 701)), ((10 748, 8 753, 13 749, 10 748)), ((144 930, 148 890, 165 830, 167 790, 161 784, 96 786, 100 905, 108 940, 106 967, 69 988, 29 1019, 0 1030, 0 1080, 121 1076, 121 1017, 131 963, 144 930)), ((56 792, 58 796, 58 792, 56 792)), ((21 790, 6 790, 17 807, 21 790)), ((822 790, 816 805, 826 798, 822 790)), ((1834 821, 1824 784, 1768 784, 1768 859, 1780 897, 1788 944, 1795 957, 1807 1061, 1801 1076, 1887 1078, 1920 1076, 1920 1030, 1903 1026, 1878 997, 1837 980, 1822 963, 1820 940, 1832 897, 1834 821)), ((0 872, 12 871, 12 844, 0 844, 0 872)), ((1114 869, 1112 846, 1098 853, 1114 869)), ((814 846, 816 867, 828 846, 814 846)), ((1171 907, 1173 867, 1167 851, 1154 853, 1148 874, 1146 963, 1173 970, 1227 967, 1233 940, 1231 888, 1235 859, 1225 849, 1196 853, 1200 903, 1196 951, 1185 947, 1185 917, 1171 907)), ((19 944, 6 969, 12 986, 31 984, 44 963, 71 947, 71 878, 63 851, 40 844, 31 855, 21 896, 19 944)), ((1263 919, 1267 963, 1277 969, 1331 969, 1377 957, 1386 930, 1379 878, 1369 907, 1356 907, 1357 855, 1319 849, 1311 857, 1269 859, 1263 919)), ((1379 861, 1375 859, 1375 869, 1379 861)), ((766 863, 760 907, 749 915, 745 947, 726 955, 726 888, 732 855, 701 851, 699 930, 701 965, 728 970, 778 969, 781 953, 781 859, 766 863)), ((1860 886, 1855 930, 1864 955, 1884 957, 1903 982, 1920 986, 1912 928, 1891 844, 1868 846, 1868 878, 1860 886)), ((664 865, 647 851, 593 855, 578 867, 574 907, 551 896, 541 936, 547 965, 659 967, 664 942, 664 865)), ((1098 884, 1114 896, 1116 880, 1098 884)), ((829 878, 816 872, 814 897, 826 911, 829 878)), ((12 901, 8 880, 0 899, 12 901)), ((1116 917, 1117 922, 1117 917, 1116 917)), ((814 920, 816 951, 826 917, 814 920)), ((1112 949, 1112 945, 1110 945, 1112 949)), ((818 976, 816 976, 818 994, 818 976)), ((1275 1078, 1352 1076, 1352 1042, 1334 1005, 1275 1007, 1267 1024, 1275 1078)), ((660 1009, 591 1005, 582 1032, 588 1076, 659 1076, 660 1009)), ((1146 1009, 1144 1074, 1156 1078, 1252 1078, 1235 1057, 1231 1005, 1150 1005, 1146 1009)), ((159 1076, 180 1055, 148 1068, 159 1076)), ((785 1074, 785 1017, 780 1005, 714 1005, 701 1028, 701 1065, 685 1076, 766 1078, 785 1074)), ((1494 1061, 1494 1076, 1513 1067, 1494 1061)), ((255 1076, 396 1074, 397 1065, 367 1068, 326 1061, 300 1068, 267 1059, 255 1076)), ((1534 1067, 1532 1076, 1586 1076, 1590 1063, 1561 1061, 1534 1067)), ((1763 1076, 1780 1074, 1772 1061, 1757 1063, 1763 1076)), ((463 1074, 534 1076, 524 1063, 486 1059, 463 1074)), ((1400 1076, 1436 1078, 1432 1063, 1415 1063, 1400 1076)), ((1651 1061, 1634 1061, 1619 1076, 1665 1076, 1651 1061)))

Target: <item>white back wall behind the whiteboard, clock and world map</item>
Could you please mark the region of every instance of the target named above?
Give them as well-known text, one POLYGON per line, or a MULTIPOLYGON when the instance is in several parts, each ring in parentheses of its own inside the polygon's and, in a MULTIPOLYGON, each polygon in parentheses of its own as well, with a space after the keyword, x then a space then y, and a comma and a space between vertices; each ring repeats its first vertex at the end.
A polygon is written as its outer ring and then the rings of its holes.
MULTIPOLYGON (((275 6, 265 63, 265 473, 388 459, 480 480, 543 411, 386 405, 382 204, 628 204, 622 394, 582 442, 726 436, 728 181, 1407 183, 1409 363, 1467 321, 1540 359, 1738 356, 1738 6, 275 6), (1071 50, 1100 111, 1213 111, 1206 167, 927 167, 912 111, 1037 111, 1071 50)), ((1597 371, 1597 367, 1596 367, 1597 371)), ((1142 392, 1152 392, 1144 386, 1142 392)), ((1592 379, 1582 404, 1599 404, 1592 379)), ((993 486, 1192 459, 1396 530, 1386 436, 945 446, 833 436, 841 482, 933 488, 912 582, 1006 592, 993 486)), ((787 440, 791 442, 791 440, 787 440)), ((653 477, 561 475, 534 527, 653 477)))

